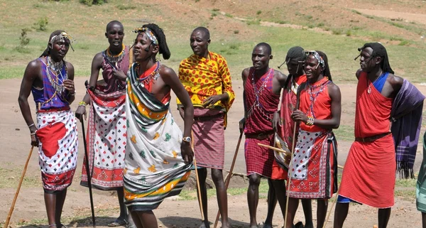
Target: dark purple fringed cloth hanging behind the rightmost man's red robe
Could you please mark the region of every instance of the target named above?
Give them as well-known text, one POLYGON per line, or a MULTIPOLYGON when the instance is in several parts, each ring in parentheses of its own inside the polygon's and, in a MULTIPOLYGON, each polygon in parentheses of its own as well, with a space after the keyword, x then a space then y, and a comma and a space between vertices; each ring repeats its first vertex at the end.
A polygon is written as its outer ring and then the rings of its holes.
POLYGON ((422 126, 425 96, 410 82, 403 86, 392 105, 391 131, 395 141, 396 165, 399 178, 414 178, 414 161, 422 126))

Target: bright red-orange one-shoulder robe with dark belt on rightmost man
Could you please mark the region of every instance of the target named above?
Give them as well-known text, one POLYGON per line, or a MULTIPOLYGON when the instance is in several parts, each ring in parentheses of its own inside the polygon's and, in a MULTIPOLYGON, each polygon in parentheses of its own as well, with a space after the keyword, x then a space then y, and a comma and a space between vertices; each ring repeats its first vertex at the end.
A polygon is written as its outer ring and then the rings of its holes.
MULTIPOLYGON (((392 99, 383 97, 366 73, 361 73, 356 87, 355 136, 389 132, 391 107, 392 99)), ((355 141, 344 165, 339 195, 372 207, 392 207, 395 172, 392 134, 368 143, 355 141)))

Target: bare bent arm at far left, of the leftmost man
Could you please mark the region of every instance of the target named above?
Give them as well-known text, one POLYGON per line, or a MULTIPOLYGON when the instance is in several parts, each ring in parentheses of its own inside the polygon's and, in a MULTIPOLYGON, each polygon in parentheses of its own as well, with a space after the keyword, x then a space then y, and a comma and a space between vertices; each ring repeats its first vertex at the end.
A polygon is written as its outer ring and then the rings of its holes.
POLYGON ((40 62, 38 60, 33 60, 28 63, 25 72, 23 73, 23 78, 21 82, 21 89, 19 90, 18 103, 21 108, 21 113, 23 119, 26 121, 26 124, 30 129, 31 134, 31 145, 38 146, 38 139, 35 136, 35 131, 37 131, 37 127, 33 121, 33 117, 31 116, 30 105, 28 104, 28 97, 31 93, 31 87, 33 86, 33 82, 40 77, 40 62))

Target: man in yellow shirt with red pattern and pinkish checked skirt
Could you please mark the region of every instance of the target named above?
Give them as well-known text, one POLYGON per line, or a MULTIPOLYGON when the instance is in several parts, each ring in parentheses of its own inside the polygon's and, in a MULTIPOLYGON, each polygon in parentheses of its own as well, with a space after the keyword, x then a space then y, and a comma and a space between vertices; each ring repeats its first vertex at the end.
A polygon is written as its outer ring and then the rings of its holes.
MULTIPOLYGON (((207 168, 211 168, 222 227, 227 228, 228 203, 222 175, 225 153, 224 129, 226 113, 234 102, 235 93, 232 90, 231 74, 226 60, 222 55, 209 52, 209 44, 210 33, 207 28, 198 27, 192 31, 190 45, 194 54, 180 62, 179 79, 194 105, 195 122, 192 125, 192 132, 202 197, 198 200, 202 200, 204 212, 204 221, 200 227, 209 227, 205 181, 207 168)), ((182 115, 183 109, 179 100, 178 109, 182 115)))

